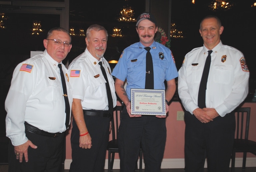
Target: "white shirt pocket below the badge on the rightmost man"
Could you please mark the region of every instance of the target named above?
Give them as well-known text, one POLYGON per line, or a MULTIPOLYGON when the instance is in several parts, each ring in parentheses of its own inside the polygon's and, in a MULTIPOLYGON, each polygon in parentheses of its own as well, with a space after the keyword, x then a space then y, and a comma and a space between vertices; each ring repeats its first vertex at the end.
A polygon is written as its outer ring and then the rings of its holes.
POLYGON ((231 81, 232 65, 215 65, 214 82, 220 84, 229 84, 231 81))

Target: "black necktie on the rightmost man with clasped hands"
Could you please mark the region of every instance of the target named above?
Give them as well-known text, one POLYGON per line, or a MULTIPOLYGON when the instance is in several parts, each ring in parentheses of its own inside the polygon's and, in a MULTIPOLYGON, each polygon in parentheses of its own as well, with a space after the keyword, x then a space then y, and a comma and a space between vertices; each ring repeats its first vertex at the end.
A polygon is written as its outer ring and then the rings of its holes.
POLYGON ((199 86, 199 91, 198 91, 198 107, 199 108, 205 108, 205 92, 206 92, 206 85, 207 85, 207 80, 208 80, 208 74, 210 70, 210 65, 211 65, 211 53, 212 50, 208 51, 208 56, 206 58, 205 64, 204 64, 204 70, 199 86))

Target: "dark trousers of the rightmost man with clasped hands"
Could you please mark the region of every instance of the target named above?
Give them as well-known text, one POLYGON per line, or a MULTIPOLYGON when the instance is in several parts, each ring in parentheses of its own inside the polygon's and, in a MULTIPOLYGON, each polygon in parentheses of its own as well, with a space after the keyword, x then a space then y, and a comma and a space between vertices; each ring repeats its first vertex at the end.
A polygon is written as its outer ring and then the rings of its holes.
POLYGON ((235 135, 235 116, 231 113, 201 123, 185 112, 186 172, 203 172, 205 157, 208 172, 228 172, 235 135))

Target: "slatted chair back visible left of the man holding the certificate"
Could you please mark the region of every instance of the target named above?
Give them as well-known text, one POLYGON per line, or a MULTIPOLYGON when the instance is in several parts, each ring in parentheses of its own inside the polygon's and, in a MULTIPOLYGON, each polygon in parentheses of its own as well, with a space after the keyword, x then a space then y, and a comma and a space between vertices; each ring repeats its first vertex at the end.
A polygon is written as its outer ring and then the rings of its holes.
POLYGON ((118 126, 120 123, 120 115, 122 113, 123 106, 116 106, 114 108, 113 117, 111 119, 111 129, 112 129, 112 140, 117 139, 118 126))

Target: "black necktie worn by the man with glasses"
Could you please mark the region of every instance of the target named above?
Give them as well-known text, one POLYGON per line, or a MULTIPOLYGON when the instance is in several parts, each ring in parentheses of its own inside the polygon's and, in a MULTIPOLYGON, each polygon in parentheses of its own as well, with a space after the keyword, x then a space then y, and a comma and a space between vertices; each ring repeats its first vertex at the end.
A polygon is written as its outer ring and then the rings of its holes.
POLYGON ((67 93, 67 86, 66 86, 66 81, 65 81, 65 76, 62 71, 62 66, 61 64, 58 64, 58 67, 60 68, 60 78, 61 78, 61 84, 62 84, 62 89, 63 89, 63 97, 65 100, 65 113, 66 113, 66 122, 65 126, 66 129, 68 129, 68 124, 69 124, 69 118, 70 118, 70 106, 69 106, 69 101, 68 101, 68 93, 67 93))

